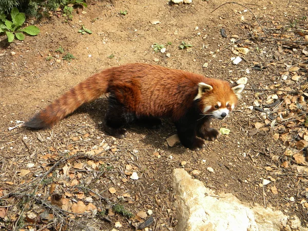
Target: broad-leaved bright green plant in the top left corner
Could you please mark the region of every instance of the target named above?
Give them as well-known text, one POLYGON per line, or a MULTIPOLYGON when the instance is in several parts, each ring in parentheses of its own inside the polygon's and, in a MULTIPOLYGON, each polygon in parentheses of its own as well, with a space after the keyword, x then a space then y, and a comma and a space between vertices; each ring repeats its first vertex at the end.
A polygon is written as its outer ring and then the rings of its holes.
POLYGON ((40 29, 36 26, 28 26, 22 28, 22 25, 26 21, 24 13, 20 13, 16 7, 11 10, 12 21, 6 19, 5 15, 0 14, 0 33, 6 33, 8 42, 11 43, 16 36, 17 40, 24 40, 25 35, 23 32, 30 35, 37 35, 40 33, 40 29))

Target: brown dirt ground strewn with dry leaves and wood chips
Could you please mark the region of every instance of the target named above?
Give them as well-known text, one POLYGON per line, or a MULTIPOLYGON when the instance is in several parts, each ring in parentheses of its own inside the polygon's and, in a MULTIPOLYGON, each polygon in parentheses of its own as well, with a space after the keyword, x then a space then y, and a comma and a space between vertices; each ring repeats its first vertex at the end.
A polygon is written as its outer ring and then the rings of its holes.
POLYGON ((11 44, 0 36, 0 229, 136 230, 151 216, 144 230, 174 230, 170 176, 180 167, 200 170, 195 177, 218 193, 280 209, 306 226, 308 3, 248 2, 251 12, 226 4, 211 13, 225 2, 92 1, 68 23, 61 12, 29 20, 41 29, 38 36, 11 44), (151 24, 155 19, 160 23, 151 24), (82 25, 93 33, 78 33, 82 25), (182 41, 192 47, 179 49, 182 41), (154 52, 155 43, 166 52, 154 52), (75 59, 63 60, 67 52, 75 59), (236 56, 243 59, 238 65, 230 60, 236 56), (9 130, 93 73, 134 62, 230 82, 246 77, 236 110, 213 122, 230 133, 200 151, 167 147, 176 133, 168 120, 158 130, 132 125, 127 138, 115 139, 102 126, 104 96, 52 129, 9 130), (132 172, 138 180, 130 179, 132 172))

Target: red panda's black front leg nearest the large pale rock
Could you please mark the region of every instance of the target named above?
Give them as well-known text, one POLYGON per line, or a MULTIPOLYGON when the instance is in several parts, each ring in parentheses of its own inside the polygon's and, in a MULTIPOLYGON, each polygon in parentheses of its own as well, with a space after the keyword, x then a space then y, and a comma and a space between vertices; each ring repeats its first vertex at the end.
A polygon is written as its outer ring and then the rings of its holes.
POLYGON ((202 139, 199 139, 196 137, 196 124, 184 124, 181 122, 175 123, 177 130, 178 130, 178 136, 181 141, 181 143, 194 151, 199 151, 199 149, 202 149, 205 147, 205 142, 202 139))

